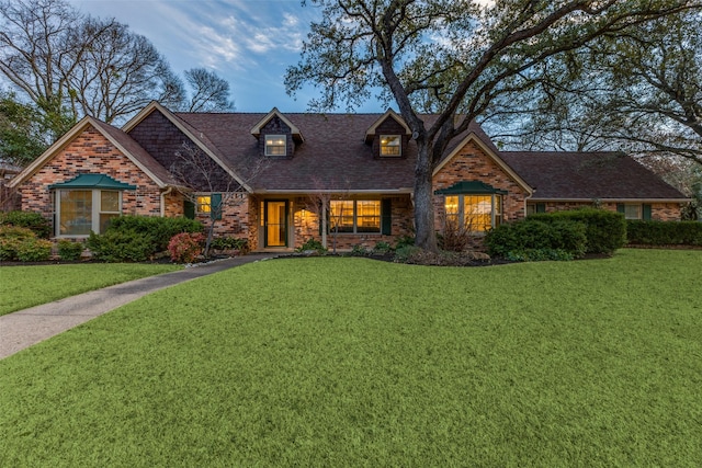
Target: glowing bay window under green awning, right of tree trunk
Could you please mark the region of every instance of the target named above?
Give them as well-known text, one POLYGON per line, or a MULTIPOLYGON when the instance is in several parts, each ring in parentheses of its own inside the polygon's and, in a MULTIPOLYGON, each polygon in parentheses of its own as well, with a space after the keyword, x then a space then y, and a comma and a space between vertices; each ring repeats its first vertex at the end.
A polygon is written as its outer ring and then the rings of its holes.
POLYGON ((444 202, 446 222, 461 222, 461 229, 484 232, 502 218, 500 195, 451 195, 444 202))

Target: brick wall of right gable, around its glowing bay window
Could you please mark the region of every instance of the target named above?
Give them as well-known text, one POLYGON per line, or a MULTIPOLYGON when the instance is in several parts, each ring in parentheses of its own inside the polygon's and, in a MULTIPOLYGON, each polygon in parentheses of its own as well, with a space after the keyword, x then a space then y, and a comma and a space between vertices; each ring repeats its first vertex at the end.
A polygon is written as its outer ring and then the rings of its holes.
MULTIPOLYGON (((502 196, 502 221, 522 219, 526 194, 480 147, 469 141, 433 178, 433 190, 448 189, 461 181, 480 181, 508 192, 502 196)), ((434 195, 434 225, 441 230, 444 195, 434 195)))

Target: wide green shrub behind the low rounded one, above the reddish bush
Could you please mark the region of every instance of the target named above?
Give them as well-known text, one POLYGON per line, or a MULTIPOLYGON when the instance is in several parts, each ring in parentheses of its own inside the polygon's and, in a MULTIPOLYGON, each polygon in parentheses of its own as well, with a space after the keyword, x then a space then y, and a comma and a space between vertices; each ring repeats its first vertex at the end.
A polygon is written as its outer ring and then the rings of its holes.
POLYGON ((181 232, 202 232, 202 222, 180 218, 162 218, 158 216, 118 216, 113 218, 109 231, 138 232, 152 244, 152 252, 163 252, 168 249, 171 238, 181 232))

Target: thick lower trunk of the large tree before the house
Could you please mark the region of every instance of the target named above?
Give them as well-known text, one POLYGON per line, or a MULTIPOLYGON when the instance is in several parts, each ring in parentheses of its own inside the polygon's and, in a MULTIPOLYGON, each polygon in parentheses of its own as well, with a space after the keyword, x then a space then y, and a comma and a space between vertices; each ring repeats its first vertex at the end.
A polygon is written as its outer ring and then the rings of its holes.
POLYGON ((417 165, 415 167, 415 246, 438 252, 434 230, 434 206, 430 145, 417 141, 417 165))

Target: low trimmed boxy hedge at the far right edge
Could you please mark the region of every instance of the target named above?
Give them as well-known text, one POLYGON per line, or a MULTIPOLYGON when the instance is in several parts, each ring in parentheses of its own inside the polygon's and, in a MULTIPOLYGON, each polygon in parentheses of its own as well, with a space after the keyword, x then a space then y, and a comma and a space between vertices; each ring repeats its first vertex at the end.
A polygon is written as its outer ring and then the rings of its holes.
POLYGON ((699 221, 626 221, 629 243, 643 246, 702 246, 699 221))

